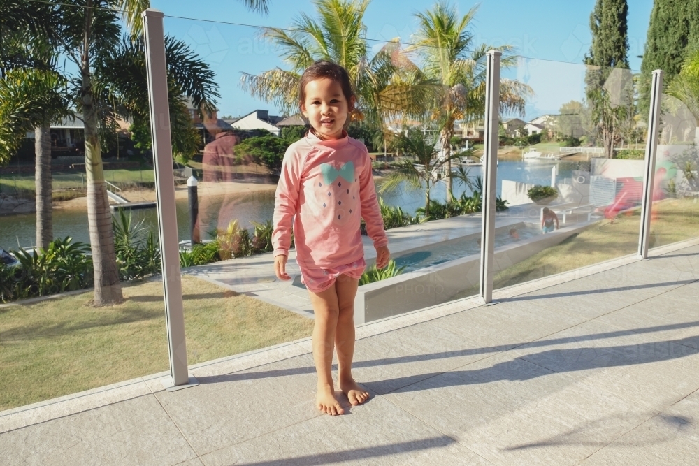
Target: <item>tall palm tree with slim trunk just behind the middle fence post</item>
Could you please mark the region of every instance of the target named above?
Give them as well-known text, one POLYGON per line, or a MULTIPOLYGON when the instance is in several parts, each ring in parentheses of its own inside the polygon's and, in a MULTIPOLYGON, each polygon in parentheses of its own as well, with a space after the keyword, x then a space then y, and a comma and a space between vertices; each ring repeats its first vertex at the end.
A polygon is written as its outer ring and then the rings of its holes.
MULTIPOLYGON (((491 47, 475 44, 470 31, 477 7, 459 16, 456 6, 438 1, 431 10, 417 13, 419 29, 408 52, 415 52, 422 60, 426 78, 438 82, 433 117, 442 122, 441 145, 445 151, 447 172, 451 173, 451 143, 454 123, 466 119, 482 119, 485 103, 486 54, 491 49, 504 52, 501 66, 517 64, 510 54, 511 45, 491 47)), ((524 115, 524 105, 533 94, 527 85, 500 79, 500 111, 524 115)), ((452 180, 447 177, 449 200, 453 198, 452 180)))

